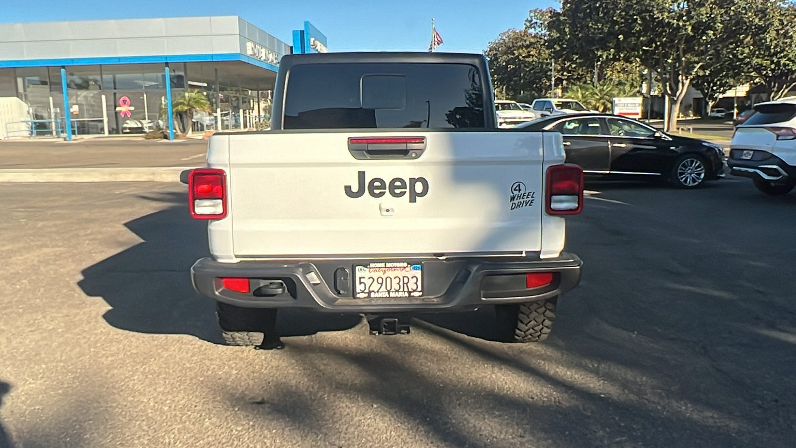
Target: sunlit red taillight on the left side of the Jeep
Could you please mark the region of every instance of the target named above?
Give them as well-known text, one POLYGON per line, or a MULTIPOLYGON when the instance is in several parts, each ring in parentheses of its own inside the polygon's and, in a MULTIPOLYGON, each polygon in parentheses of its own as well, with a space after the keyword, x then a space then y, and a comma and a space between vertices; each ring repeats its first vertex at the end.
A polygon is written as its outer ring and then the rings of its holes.
POLYGON ((188 175, 188 200, 195 219, 227 216, 227 175, 223 170, 199 168, 188 175))

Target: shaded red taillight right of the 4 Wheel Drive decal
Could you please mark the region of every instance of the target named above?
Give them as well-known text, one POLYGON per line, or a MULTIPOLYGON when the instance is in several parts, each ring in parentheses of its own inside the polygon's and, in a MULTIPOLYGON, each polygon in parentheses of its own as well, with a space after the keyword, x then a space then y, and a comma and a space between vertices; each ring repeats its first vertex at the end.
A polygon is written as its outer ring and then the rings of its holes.
POLYGON ((583 170, 577 165, 553 165, 547 170, 548 214, 579 214, 583 210, 583 170))

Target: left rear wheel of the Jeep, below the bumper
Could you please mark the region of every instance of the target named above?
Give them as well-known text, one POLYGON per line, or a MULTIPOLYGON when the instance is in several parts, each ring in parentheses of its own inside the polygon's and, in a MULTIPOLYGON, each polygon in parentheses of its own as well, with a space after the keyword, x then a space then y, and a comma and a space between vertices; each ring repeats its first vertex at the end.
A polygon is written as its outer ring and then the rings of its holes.
POLYGON ((275 309, 240 308, 217 302, 216 314, 221 336, 227 345, 259 346, 263 344, 265 332, 275 332, 275 309))

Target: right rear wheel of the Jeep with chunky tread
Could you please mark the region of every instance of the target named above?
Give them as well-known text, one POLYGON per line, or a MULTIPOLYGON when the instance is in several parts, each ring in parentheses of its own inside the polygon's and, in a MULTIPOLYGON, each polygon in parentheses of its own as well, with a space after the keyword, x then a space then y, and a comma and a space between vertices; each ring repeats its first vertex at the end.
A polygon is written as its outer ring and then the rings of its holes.
POLYGON ((545 301, 495 305, 497 333, 505 342, 541 342, 547 339, 556 319, 558 297, 545 301))

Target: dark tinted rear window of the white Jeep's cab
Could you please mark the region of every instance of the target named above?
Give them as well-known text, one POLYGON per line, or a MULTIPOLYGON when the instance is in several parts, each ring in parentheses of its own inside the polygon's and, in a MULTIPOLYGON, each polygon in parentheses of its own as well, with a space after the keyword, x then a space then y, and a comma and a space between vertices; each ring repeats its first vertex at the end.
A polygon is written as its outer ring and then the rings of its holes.
POLYGON ((484 91, 473 65, 294 65, 284 129, 484 128, 484 91))

